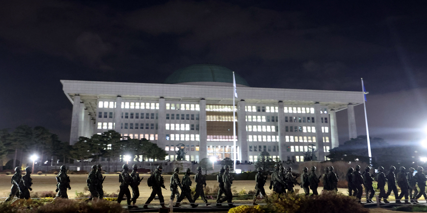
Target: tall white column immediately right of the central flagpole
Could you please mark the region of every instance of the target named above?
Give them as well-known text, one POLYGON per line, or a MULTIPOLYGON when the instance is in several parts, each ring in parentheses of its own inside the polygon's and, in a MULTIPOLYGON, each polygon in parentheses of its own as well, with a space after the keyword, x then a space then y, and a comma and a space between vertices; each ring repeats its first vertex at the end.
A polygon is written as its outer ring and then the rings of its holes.
POLYGON ((237 125, 238 125, 238 146, 240 147, 240 159, 241 162, 249 161, 248 157, 248 146, 247 146, 247 134, 246 134, 246 111, 244 110, 244 107, 246 106, 246 103, 244 100, 240 100, 240 102, 237 104, 237 125))

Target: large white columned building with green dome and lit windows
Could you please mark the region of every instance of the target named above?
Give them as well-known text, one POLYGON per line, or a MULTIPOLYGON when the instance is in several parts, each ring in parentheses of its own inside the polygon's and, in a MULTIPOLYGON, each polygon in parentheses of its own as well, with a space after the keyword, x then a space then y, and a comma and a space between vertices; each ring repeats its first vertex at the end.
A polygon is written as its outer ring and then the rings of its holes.
POLYGON ((194 64, 175 71, 164 83, 61 80, 73 104, 70 144, 79 136, 115 130, 147 138, 175 160, 177 144, 186 160, 233 159, 233 110, 236 112, 237 160, 273 158, 300 162, 315 148, 325 160, 339 145, 336 111, 347 109, 350 138, 356 137, 353 106, 362 92, 256 88, 237 73, 214 64, 194 64))

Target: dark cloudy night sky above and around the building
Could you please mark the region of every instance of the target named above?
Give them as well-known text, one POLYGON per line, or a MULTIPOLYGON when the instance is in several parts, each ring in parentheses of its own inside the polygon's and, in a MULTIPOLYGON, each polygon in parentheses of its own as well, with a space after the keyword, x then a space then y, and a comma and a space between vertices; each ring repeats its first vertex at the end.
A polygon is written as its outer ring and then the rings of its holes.
MULTIPOLYGON (((370 134, 416 142, 427 127, 427 1, 11 0, 0 7, 0 129, 69 140, 59 80, 162 83, 214 63, 252 87, 369 91, 370 134)), ((238 91, 239 92, 239 91, 238 91)), ((355 107, 366 134, 363 105, 355 107)), ((347 110, 337 113, 340 142, 347 110)))

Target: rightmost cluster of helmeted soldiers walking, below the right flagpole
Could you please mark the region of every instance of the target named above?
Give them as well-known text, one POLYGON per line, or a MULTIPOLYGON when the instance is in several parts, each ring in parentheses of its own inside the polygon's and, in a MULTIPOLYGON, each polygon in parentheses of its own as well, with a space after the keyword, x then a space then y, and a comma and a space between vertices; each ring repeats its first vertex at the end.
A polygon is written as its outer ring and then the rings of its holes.
POLYGON ((389 203, 387 201, 388 196, 391 192, 395 194, 396 203, 401 203, 403 196, 405 197, 405 204, 418 203, 418 199, 421 196, 424 196, 427 199, 426 195, 426 175, 423 173, 423 167, 417 167, 417 173, 414 175, 414 168, 409 168, 409 172, 406 172, 406 168, 400 166, 399 172, 395 174, 396 167, 390 166, 390 170, 387 174, 384 174, 384 167, 378 167, 378 172, 375 174, 370 173, 371 167, 366 166, 365 171, 360 173, 360 166, 356 165, 355 171, 352 167, 348 168, 346 179, 348 182, 348 194, 350 196, 355 196, 359 199, 359 202, 362 198, 363 187, 365 187, 366 193, 366 202, 373 203, 372 198, 374 197, 374 187, 373 181, 374 177, 377 182, 377 189, 379 189, 379 202, 383 199, 384 203, 389 203), (396 178, 397 177, 397 178, 396 178), (397 179, 397 180, 396 180, 397 179), (400 187, 400 194, 398 188, 396 187, 396 181, 400 187), (387 184, 387 192, 384 187, 387 184), (417 186, 420 188, 418 192, 417 186), (412 193, 413 192, 413 193, 412 193), (409 202, 410 199, 410 202, 409 202))

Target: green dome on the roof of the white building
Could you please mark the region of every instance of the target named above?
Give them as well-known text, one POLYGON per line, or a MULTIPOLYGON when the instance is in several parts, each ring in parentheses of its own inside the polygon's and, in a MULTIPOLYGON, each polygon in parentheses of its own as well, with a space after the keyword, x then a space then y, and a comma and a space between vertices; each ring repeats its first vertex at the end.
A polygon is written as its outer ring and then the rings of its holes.
MULTIPOLYGON (((249 86, 249 84, 234 73, 236 84, 249 86)), ((164 83, 189 83, 189 82, 220 82, 233 83, 233 71, 216 64, 193 64, 172 73, 164 83)))

